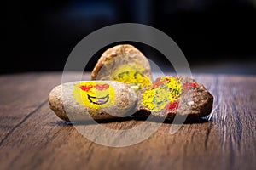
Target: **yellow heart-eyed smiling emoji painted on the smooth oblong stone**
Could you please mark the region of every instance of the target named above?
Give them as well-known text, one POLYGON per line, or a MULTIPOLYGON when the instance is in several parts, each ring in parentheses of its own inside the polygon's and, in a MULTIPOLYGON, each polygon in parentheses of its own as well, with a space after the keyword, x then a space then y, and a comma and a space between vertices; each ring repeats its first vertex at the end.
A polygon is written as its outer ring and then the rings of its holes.
POLYGON ((79 82, 73 87, 73 96, 80 105, 99 109, 114 104, 115 91, 105 82, 79 82))

